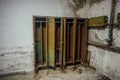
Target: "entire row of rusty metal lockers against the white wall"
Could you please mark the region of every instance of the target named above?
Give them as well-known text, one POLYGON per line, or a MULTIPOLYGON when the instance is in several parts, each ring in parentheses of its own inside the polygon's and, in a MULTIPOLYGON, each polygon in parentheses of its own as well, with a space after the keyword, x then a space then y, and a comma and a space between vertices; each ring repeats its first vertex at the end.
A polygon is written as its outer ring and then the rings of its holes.
MULTIPOLYGON (((35 63, 37 67, 85 63, 87 20, 69 17, 34 17, 35 63)), ((36 67, 35 66, 35 67, 36 67)))

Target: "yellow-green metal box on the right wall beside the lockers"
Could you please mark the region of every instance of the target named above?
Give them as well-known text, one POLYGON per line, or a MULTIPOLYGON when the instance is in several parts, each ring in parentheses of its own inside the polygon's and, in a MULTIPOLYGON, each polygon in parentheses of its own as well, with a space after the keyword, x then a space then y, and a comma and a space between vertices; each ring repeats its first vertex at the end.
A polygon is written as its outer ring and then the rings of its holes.
POLYGON ((89 19, 89 27, 104 27, 108 24, 107 16, 93 17, 89 19))

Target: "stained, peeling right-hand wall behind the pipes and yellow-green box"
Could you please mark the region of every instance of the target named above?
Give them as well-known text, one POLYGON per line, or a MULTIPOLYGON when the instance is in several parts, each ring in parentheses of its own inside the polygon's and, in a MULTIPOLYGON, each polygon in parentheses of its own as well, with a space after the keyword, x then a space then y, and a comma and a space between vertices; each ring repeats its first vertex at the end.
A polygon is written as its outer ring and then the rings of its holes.
MULTIPOLYGON (((111 0, 85 0, 84 3, 80 3, 80 1, 71 0, 68 2, 74 16, 91 18, 106 15, 110 19, 111 0), (84 5, 78 7, 80 4, 84 5)), ((116 4, 115 23, 118 12, 120 12, 120 0, 117 0, 116 4)), ((102 29, 89 29, 89 40, 106 44, 108 32, 108 26, 102 29)), ((120 29, 114 28, 113 39, 113 46, 120 47, 120 29)), ((93 45, 89 45, 88 50, 92 53, 90 65, 109 74, 114 80, 120 79, 119 53, 101 49, 93 45)))

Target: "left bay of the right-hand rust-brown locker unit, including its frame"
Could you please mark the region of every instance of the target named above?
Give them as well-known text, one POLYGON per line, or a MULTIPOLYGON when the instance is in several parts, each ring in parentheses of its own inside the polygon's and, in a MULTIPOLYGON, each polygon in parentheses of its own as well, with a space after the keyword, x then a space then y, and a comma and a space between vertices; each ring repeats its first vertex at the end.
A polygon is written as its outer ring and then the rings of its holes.
POLYGON ((76 35, 76 19, 64 18, 64 53, 63 65, 74 64, 75 60, 75 35, 76 35))

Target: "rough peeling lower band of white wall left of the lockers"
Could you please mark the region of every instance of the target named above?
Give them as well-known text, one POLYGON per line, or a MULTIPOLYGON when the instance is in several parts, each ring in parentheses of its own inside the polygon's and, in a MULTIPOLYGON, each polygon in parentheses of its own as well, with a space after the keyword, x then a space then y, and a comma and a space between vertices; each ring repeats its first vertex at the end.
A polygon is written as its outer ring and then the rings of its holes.
POLYGON ((0 73, 34 70, 33 47, 0 49, 0 73))

